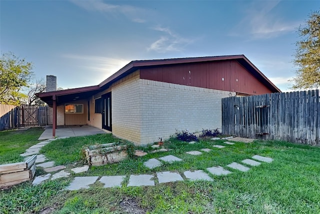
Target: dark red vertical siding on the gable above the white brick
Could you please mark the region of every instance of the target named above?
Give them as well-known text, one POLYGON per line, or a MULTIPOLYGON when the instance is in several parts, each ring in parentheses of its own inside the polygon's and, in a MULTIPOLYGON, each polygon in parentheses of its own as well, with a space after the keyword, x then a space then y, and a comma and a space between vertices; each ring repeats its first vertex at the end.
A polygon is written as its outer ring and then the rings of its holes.
POLYGON ((140 78, 250 95, 271 93, 235 60, 141 68, 140 78))

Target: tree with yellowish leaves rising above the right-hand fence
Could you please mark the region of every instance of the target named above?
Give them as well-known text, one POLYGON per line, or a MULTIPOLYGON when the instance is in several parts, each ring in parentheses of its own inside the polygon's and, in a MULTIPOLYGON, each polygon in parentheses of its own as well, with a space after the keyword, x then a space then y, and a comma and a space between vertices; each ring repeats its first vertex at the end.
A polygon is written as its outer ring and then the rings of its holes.
POLYGON ((298 66, 293 78, 293 89, 317 88, 320 86, 320 14, 312 12, 305 26, 298 29, 296 53, 293 63, 298 66))

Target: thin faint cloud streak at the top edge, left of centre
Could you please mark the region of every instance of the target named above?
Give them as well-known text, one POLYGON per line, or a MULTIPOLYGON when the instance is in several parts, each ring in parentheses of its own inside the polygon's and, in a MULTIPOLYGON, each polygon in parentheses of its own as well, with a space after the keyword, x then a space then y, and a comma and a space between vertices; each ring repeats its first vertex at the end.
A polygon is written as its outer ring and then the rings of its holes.
POLYGON ((145 11, 141 8, 129 6, 129 5, 112 5, 107 4, 101 0, 94 1, 79 1, 70 0, 74 5, 91 12, 100 12, 107 15, 117 16, 122 15, 127 17, 131 22, 145 23, 141 16, 144 16, 145 11))

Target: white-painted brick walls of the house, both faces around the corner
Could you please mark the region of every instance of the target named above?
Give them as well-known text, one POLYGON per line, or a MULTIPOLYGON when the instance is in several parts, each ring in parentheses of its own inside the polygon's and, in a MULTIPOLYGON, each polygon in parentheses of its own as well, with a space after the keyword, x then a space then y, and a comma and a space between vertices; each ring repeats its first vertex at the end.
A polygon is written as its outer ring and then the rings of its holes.
POLYGON ((221 128, 221 98, 228 96, 226 91, 142 80, 136 71, 112 85, 112 133, 146 145, 175 129, 221 128))

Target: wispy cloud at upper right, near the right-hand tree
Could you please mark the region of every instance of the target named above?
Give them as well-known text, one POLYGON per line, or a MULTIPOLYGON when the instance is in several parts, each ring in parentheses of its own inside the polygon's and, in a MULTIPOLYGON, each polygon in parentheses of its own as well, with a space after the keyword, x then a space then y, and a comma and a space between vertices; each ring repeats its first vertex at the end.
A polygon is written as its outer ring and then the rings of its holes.
POLYGON ((273 12, 279 1, 256 1, 245 10, 244 18, 232 29, 230 36, 243 36, 249 34, 251 39, 268 39, 281 34, 292 32, 299 22, 285 22, 281 15, 273 12))

